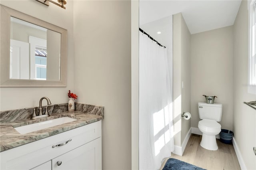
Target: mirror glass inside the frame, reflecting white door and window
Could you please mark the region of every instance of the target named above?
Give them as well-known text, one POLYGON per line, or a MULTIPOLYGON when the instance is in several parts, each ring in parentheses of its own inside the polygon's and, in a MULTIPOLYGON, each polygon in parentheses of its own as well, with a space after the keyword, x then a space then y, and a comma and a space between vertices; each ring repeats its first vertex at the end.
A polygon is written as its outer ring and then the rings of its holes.
POLYGON ((61 34, 11 17, 10 79, 60 80, 61 34))

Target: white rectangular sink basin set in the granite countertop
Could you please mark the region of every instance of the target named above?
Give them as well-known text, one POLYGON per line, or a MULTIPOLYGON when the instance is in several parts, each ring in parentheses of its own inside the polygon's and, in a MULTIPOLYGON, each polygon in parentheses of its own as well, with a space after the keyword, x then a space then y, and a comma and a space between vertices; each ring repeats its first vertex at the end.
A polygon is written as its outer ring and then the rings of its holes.
POLYGON ((20 134, 26 134, 30 132, 35 132, 37 130, 42 130, 45 128, 54 127, 64 123, 72 122, 72 121, 76 121, 76 119, 72 119, 70 117, 61 117, 58 119, 52 119, 49 121, 34 123, 30 125, 25 125, 22 127, 16 127, 15 130, 17 130, 20 134))

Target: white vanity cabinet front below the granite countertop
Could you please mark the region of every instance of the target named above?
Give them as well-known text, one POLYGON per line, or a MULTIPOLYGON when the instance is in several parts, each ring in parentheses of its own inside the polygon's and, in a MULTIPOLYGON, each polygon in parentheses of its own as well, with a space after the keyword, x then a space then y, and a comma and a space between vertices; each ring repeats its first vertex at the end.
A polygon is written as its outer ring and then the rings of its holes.
POLYGON ((102 169, 101 121, 0 152, 1 170, 102 169))

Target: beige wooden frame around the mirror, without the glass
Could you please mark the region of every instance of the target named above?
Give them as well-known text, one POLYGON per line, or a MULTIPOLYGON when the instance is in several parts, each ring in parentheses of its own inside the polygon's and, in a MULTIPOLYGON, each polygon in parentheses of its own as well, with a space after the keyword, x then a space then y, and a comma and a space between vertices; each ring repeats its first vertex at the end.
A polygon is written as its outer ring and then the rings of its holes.
POLYGON ((66 87, 67 30, 0 5, 0 87, 66 87), (61 34, 60 80, 10 79, 10 17, 15 17, 61 34))

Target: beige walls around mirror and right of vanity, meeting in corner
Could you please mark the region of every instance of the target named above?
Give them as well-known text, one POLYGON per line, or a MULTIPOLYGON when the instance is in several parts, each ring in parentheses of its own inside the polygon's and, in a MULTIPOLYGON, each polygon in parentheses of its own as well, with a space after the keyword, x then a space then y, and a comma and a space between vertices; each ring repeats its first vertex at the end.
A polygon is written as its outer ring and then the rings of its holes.
POLYGON ((42 96, 53 104, 66 103, 70 89, 78 102, 105 106, 103 169, 131 169, 130 3, 68 1, 64 10, 51 3, 47 7, 30 0, 1 0, 5 6, 68 30, 67 87, 0 88, 1 111, 38 106, 42 96))

